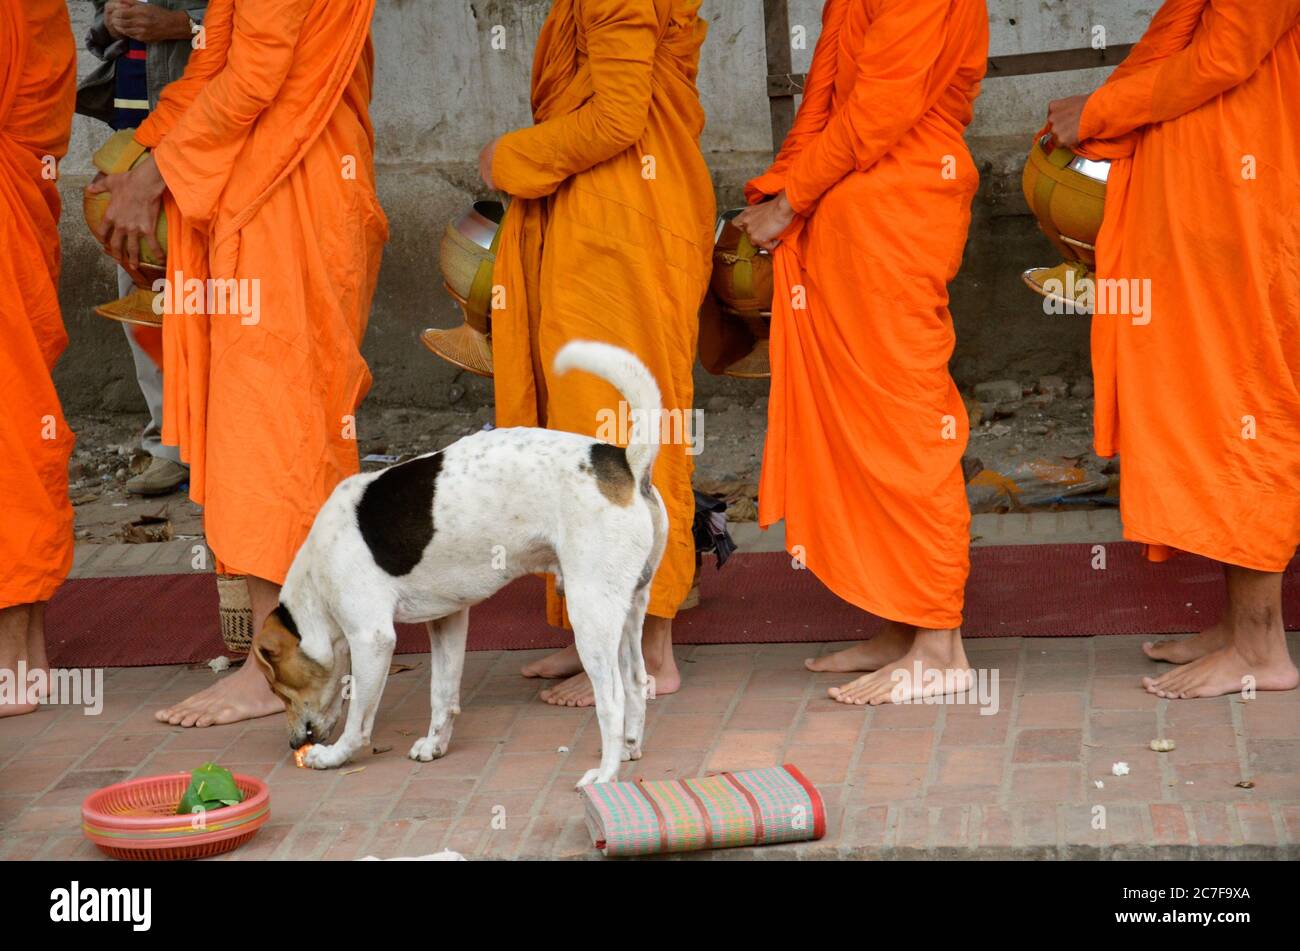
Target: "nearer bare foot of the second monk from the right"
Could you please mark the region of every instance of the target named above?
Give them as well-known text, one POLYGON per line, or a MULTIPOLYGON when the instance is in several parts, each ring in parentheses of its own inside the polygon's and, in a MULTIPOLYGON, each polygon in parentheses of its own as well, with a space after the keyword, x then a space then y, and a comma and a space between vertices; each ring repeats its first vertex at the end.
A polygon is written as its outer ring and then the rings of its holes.
POLYGON ((840 703, 876 705, 959 694, 974 682, 959 630, 918 629, 911 648, 901 657, 827 692, 840 703))

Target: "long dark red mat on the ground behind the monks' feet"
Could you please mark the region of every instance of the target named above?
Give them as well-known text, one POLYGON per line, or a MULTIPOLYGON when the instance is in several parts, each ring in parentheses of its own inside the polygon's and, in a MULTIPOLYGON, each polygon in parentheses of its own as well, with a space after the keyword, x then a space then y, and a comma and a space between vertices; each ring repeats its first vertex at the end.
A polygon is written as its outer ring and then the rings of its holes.
MULTIPOLYGON (((1179 555, 1164 564, 1139 546, 1105 546, 1096 569, 1091 544, 975 548, 966 589, 967 637, 1169 634, 1197 630, 1222 607, 1214 563, 1179 555)), ((852 640, 879 621, 827 591, 784 553, 734 555, 705 568, 703 602, 673 624, 680 644, 852 640)), ((1283 589, 1286 622, 1300 628, 1300 563, 1283 589)), ((471 612, 469 650, 558 647, 569 637, 542 620, 542 582, 521 578, 471 612)), ((144 666, 209 660, 221 652, 212 574, 84 578, 60 589, 46 620, 58 666, 144 666)), ((398 652, 428 650, 424 630, 402 626, 398 652)))

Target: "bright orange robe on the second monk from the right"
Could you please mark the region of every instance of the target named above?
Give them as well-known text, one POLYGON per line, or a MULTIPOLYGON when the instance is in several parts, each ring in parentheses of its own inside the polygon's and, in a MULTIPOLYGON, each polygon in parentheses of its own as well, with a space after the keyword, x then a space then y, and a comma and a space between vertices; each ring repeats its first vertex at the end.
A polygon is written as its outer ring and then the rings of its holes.
POLYGON ((962 139, 983 0, 828 0, 794 126, 749 200, 798 212, 775 255, 759 522, 880 617, 961 625, 967 417, 948 282, 978 173, 962 139))

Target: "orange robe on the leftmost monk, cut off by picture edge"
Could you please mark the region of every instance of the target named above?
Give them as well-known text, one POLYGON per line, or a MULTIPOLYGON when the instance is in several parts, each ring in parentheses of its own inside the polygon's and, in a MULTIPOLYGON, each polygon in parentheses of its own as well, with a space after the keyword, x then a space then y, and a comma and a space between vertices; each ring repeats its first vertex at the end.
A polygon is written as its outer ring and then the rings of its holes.
POLYGON ((73 564, 74 437, 49 377, 58 312, 58 187, 77 87, 64 0, 0 9, 0 608, 48 600, 73 564))

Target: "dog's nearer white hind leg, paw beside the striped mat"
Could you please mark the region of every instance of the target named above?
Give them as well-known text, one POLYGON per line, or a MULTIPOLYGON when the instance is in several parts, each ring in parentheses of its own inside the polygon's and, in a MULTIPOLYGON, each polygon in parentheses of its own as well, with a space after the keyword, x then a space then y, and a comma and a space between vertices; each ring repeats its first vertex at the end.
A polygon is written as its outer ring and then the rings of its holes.
POLYGON ((601 724, 601 767, 589 769, 578 786, 618 778, 619 763, 623 760, 625 696, 619 673, 619 651, 629 596, 611 587, 614 585, 610 578, 584 577, 578 583, 569 576, 566 602, 573 624, 573 643, 582 669, 592 678, 595 718, 601 724))

